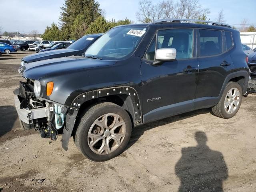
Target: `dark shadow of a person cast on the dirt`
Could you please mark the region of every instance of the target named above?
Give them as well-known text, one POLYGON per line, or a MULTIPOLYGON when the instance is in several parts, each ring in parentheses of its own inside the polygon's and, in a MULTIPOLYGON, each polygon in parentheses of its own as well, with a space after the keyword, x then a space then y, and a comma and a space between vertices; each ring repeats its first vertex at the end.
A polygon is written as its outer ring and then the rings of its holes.
POLYGON ((222 182, 228 178, 223 155, 210 150, 204 132, 196 132, 195 139, 198 145, 182 148, 182 157, 175 166, 179 192, 222 192, 222 182))

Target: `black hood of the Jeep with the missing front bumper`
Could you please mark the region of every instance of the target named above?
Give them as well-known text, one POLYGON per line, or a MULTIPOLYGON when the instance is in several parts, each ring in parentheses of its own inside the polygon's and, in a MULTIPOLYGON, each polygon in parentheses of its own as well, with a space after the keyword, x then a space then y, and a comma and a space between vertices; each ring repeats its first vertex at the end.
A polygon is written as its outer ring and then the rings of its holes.
POLYGON ((76 70, 114 65, 117 61, 98 60, 82 56, 48 59, 20 67, 19 72, 25 78, 39 80, 45 76, 55 76, 76 70))

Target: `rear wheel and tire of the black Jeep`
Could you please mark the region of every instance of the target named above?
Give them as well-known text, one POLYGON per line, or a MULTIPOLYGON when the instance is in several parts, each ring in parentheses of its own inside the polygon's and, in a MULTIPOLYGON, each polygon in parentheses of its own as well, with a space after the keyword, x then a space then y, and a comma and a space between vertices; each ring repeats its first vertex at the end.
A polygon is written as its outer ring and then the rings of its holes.
POLYGON ((212 107, 215 116, 229 119, 236 115, 242 103, 242 88, 236 82, 228 82, 218 104, 212 107), (239 91, 239 93, 237 92, 239 91), (236 96, 237 95, 237 96, 236 96))

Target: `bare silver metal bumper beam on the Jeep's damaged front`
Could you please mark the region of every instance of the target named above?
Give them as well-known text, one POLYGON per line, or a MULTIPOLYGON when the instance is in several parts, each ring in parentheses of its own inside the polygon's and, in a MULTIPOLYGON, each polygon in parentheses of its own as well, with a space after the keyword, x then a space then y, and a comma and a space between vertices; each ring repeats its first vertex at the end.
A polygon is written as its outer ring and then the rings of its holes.
MULTIPOLYGON (((16 92, 16 90, 14 90, 14 92, 16 92)), ((47 107, 30 110, 27 108, 21 109, 18 95, 14 95, 14 104, 20 120, 26 124, 32 124, 33 119, 45 118, 49 116, 49 109, 47 107)))

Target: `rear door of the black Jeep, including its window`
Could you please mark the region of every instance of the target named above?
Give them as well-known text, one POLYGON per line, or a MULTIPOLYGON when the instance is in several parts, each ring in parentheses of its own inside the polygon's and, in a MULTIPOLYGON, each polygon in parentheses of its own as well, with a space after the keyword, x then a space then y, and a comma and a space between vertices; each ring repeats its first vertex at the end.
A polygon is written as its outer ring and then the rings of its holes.
POLYGON ((194 109, 212 106, 218 102, 222 85, 234 68, 229 50, 233 48, 230 32, 197 30, 199 73, 194 109))

